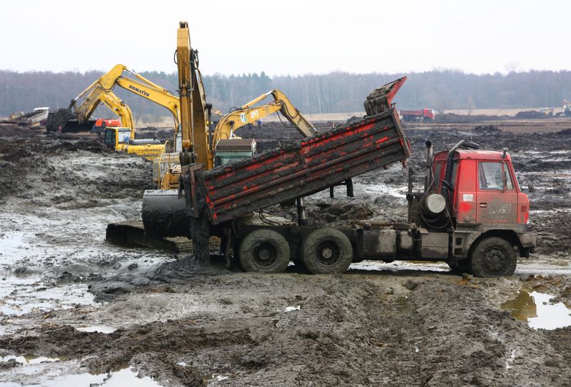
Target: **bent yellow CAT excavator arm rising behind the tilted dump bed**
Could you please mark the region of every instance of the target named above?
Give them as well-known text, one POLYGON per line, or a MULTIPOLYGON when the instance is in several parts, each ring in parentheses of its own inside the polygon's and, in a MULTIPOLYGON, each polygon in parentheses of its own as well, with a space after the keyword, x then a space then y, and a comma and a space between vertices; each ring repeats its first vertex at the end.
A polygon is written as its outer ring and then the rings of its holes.
POLYGON ((221 121, 216 125, 214 131, 213 144, 218 140, 230 139, 236 129, 241 128, 247 124, 251 124, 258 119, 262 119, 273 113, 280 112, 290 124, 297 129, 304 137, 313 137, 317 134, 315 127, 293 106, 287 96, 278 89, 268 91, 266 94, 258 96, 256 99, 244 104, 239 109, 231 111, 223 116, 221 121), (261 106, 254 106, 268 96, 273 96, 273 102, 263 104, 261 106))

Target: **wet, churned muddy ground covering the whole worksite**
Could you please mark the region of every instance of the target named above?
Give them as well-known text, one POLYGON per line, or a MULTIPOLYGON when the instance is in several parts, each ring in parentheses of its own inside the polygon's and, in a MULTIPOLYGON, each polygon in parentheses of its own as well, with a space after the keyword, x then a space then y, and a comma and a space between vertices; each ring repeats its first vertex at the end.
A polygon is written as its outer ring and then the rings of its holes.
MULTIPOLYGON (((565 326, 569 317, 571 120, 408 124, 405 132, 418 189, 426 139, 435 151, 466 138, 510 149, 538 243, 515 276, 363 261, 335 276, 290 267, 161 278, 161 265, 187 257, 105 242, 107 223, 140 216, 152 188, 148 161, 89 135, 0 124, 0 386, 570 386, 571 328, 531 321, 550 307, 562 315, 548 320, 565 326), (136 281, 96 301, 90 287, 117 276, 136 281), (512 315, 518 300, 522 311, 512 315)), ((297 136, 275 124, 240 134, 262 150, 297 136)), ((309 221, 405 220, 401 166, 354 181, 355 198, 343 187, 333 199, 307 198, 309 221)))

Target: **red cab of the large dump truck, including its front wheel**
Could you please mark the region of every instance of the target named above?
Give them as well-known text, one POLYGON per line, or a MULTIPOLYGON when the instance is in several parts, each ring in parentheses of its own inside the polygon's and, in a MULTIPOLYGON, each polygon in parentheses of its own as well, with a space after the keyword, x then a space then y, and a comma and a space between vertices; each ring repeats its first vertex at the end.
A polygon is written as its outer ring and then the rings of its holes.
MULTIPOLYGON (((512 273, 515 250, 529 257, 535 248, 535 236, 527 232, 529 198, 517 183, 507 149, 459 147, 435 154, 425 191, 445 200, 448 263, 478 276, 512 273)), ((426 218, 418 223, 429 230, 432 225, 426 218)))

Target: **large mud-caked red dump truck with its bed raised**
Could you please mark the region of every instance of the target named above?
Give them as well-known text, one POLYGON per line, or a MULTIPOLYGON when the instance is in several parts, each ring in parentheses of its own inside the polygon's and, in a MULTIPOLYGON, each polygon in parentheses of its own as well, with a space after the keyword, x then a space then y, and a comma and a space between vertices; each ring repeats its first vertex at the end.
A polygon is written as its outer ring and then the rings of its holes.
POLYGON ((405 164, 410 146, 391 104, 403 81, 370 94, 365 102, 370 116, 360 121, 186 175, 186 200, 178 199, 176 211, 171 204, 167 217, 157 205, 166 200, 165 193, 146 193, 146 230, 191 235, 195 253, 208 248, 208 236, 220 236, 222 252, 228 260, 237 258, 246 271, 281 272, 293 261, 310 273, 343 273, 363 259, 398 259, 446 261, 476 276, 511 275, 517 254, 527 257, 535 247, 535 236, 527 232, 530 203, 517 184, 510 155, 477 150, 470 141, 435 156, 428 141, 422 192, 413 192, 409 171, 407 223, 306 225, 303 196, 366 171, 405 164), (253 215, 288 201, 298 206, 298 223, 253 215))

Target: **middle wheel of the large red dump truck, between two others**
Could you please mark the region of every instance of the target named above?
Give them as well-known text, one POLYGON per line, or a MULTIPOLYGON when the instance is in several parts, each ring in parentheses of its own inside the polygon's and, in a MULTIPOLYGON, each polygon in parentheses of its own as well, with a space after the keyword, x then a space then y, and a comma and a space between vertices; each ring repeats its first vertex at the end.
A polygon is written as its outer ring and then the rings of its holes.
POLYGON ((318 228, 301 242, 301 260, 310 273, 344 273, 353 260, 349 238, 335 228, 318 228))

